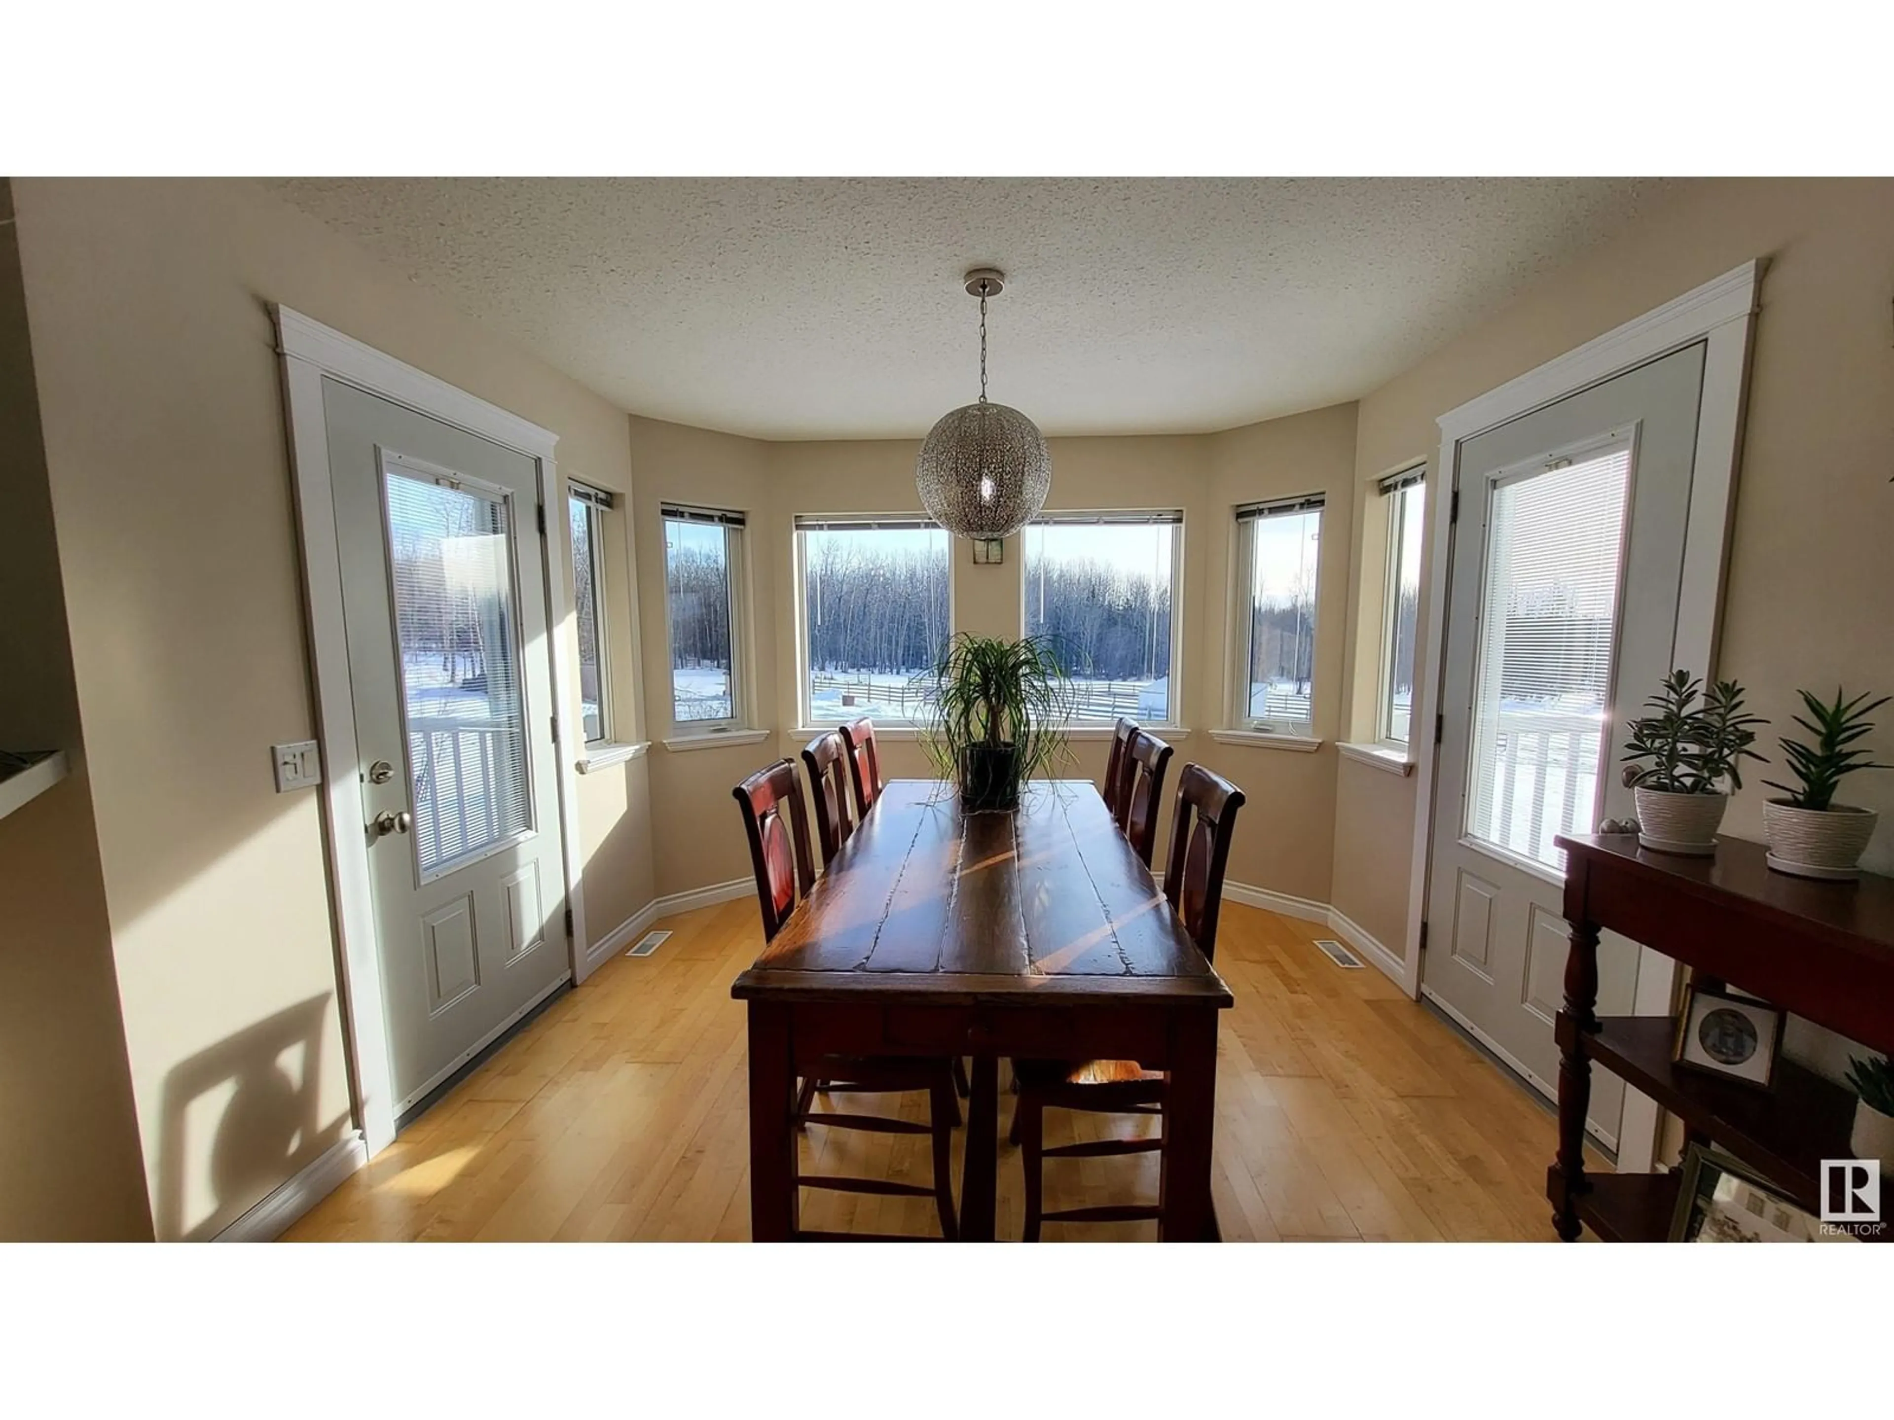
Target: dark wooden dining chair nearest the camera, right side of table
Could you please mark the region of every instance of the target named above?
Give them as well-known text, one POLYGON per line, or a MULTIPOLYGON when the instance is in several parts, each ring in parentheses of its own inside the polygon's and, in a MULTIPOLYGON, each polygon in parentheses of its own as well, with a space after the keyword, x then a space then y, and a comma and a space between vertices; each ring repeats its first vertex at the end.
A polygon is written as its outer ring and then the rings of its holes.
MULTIPOLYGON (((1165 899, 1176 911, 1184 932, 1206 958, 1216 958, 1218 907, 1224 899, 1224 871, 1229 867, 1229 841, 1242 808, 1242 790, 1203 765, 1184 765, 1178 776, 1176 820, 1170 827, 1170 860, 1165 863, 1165 899)), ((1040 1240, 1040 1225, 1116 1223, 1163 1217, 1161 1204, 1097 1204, 1091 1208, 1044 1210, 1044 1170, 1047 1159, 1085 1159, 1121 1153, 1152 1153, 1163 1147, 1165 1075, 1136 1060, 1015 1060, 1019 1104, 1008 1138, 1019 1145, 1027 1176, 1025 1240, 1040 1240), (1045 1109, 1085 1113, 1159 1115, 1159 1132, 1136 1140, 1091 1140, 1044 1145, 1045 1109)))

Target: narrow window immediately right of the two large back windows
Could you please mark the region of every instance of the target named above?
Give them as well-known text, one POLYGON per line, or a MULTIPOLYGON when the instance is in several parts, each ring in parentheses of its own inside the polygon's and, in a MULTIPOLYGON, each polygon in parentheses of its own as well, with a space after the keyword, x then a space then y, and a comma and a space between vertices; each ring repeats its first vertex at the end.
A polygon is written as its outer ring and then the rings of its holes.
POLYGON ((1322 494, 1237 509, 1239 725, 1311 733, 1320 564, 1322 494))

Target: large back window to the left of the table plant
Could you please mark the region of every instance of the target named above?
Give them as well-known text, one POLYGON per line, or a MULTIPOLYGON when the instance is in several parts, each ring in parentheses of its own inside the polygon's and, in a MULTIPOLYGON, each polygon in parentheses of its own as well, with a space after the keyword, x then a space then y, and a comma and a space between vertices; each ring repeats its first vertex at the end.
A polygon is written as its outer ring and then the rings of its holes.
POLYGON ((953 630, 951 540, 920 517, 797 517, 803 723, 926 719, 920 672, 953 630))

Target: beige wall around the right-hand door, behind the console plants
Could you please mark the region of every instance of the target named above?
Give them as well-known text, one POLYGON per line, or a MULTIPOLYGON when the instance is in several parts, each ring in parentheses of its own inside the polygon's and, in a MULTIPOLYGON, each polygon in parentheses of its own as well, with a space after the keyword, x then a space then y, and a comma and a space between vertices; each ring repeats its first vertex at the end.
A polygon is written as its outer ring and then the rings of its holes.
MULTIPOLYGON (((1750 257, 1761 290, 1748 430, 1737 488, 1720 674, 1775 725, 1796 687, 1894 691, 1894 182, 1714 180, 1684 191, 1540 282, 1360 407, 1356 470, 1369 475, 1438 449, 1434 420, 1474 396, 1619 326, 1750 257)), ((1428 517, 1436 515, 1428 507, 1428 517)), ((1422 619, 1428 610, 1422 608, 1422 619)), ((1894 719, 1877 737, 1894 750, 1894 719)), ((1725 829, 1761 837, 1769 793, 1752 780, 1725 829)), ((1894 774, 1858 774, 1850 803, 1881 810, 1867 863, 1894 867, 1894 774)), ((1400 950, 1385 877, 1413 835, 1413 782, 1343 763, 1335 907, 1400 950), (1383 782, 1386 780, 1386 782, 1383 782), (1388 784, 1398 784, 1390 793, 1388 784), (1386 935, 1383 935, 1386 933, 1386 935)))

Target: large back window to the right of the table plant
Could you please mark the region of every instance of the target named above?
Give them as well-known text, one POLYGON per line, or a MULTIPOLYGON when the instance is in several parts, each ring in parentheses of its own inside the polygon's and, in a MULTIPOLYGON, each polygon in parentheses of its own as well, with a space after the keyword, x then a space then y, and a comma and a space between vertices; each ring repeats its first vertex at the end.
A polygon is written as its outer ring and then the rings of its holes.
POLYGON ((1176 723, 1182 513, 1057 513, 1025 530, 1027 634, 1074 682, 1074 721, 1176 723))

